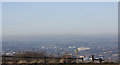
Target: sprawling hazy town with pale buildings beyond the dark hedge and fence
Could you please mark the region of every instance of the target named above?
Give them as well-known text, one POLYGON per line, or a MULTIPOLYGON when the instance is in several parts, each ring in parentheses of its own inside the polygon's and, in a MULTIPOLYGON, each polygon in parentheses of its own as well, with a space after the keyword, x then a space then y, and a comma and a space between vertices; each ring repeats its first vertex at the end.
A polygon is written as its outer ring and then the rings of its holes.
MULTIPOLYGON (((116 43, 116 41, 107 41, 106 43, 116 43)), ((60 59, 65 59, 65 55, 67 58, 79 59, 79 62, 87 63, 92 62, 93 58, 97 59, 94 63, 102 62, 114 62, 118 61, 118 48, 117 45, 105 45, 102 46, 100 41, 9 41, 3 42, 2 55, 14 57, 16 54, 24 54, 25 52, 34 51, 34 52, 44 52, 46 58, 55 58, 59 59, 56 61, 60 62, 60 59), (57 44, 56 44, 57 43, 57 44), (80 44, 82 43, 82 44, 80 44), (88 44, 87 44, 88 43, 88 44), (31 45, 31 46, 30 46, 31 45), (111 47, 110 47, 111 46, 111 47), (77 51, 76 51, 77 50, 77 51), (77 56, 76 56, 77 55, 77 56)), ((105 43, 105 41, 104 41, 105 43)), ((103 43, 103 44, 104 44, 103 43)), ((30 53, 29 53, 30 54, 30 53)), ((28 55, 29 55, 28 54, 28 55)), ((39 54, 38 54, 39 55, 39 54)), ((33 55, 34 56, 34 55, 33 55)), ((32 56, 30 56, 32 57, 32 56)), ((39 57, 39 56, 38 56, 39 57)), ((63 63, 63 60, 61 62, 63 63)), ((50 61, 52 62, 52 61, 50 61)), ((72 62, 72 61, 71 61, 72 62)))

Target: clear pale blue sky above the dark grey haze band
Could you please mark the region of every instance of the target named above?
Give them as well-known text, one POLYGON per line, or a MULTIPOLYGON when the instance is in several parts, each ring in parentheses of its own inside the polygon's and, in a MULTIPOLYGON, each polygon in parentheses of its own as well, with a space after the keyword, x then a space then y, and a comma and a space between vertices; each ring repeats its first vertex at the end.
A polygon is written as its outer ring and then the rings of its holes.
POLYGON ((3 3, 3 35, 114 35, 117 4, 3 3))

